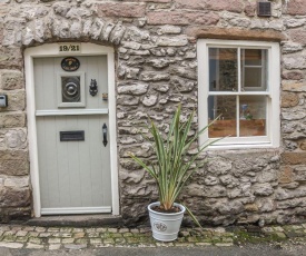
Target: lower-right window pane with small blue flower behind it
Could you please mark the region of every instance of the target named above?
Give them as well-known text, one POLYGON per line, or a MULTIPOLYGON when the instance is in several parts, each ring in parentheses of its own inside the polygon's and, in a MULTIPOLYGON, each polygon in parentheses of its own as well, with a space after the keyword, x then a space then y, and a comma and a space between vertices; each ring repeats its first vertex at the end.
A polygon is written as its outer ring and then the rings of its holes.
POLYGON ((266 96, 239 97, 240 137, 266 135, 266 96))

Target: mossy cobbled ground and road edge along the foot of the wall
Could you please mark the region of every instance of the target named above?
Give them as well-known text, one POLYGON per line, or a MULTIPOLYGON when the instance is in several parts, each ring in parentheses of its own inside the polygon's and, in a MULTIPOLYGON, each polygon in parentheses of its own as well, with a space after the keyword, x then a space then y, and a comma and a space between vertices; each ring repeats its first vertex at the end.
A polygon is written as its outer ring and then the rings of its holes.
POLYGON ((172 243, 155 240, 149 228, 0 226, 0 256, 131 254, 306 256, 306 224, 182 228, 172 243))

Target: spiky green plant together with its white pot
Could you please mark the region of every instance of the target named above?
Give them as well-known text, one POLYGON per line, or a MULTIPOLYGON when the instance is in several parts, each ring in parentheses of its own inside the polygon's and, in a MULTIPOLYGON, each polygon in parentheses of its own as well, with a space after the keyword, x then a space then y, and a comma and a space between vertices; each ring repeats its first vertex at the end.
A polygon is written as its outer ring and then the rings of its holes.
MULTIPOLYGON (((157 159, 155 164, 147 165, 140 158, 130 154, 131 158, 147 170, 156 181, 159 201, 150 204, 148 210, 152 236, 162 242, 170 242, 177 238, 186 209, 199 225, 188 208, 177 203, 177 198, 196 170, 193 165, 198 159, 198 156, 209 145, 216 141, 201 145, 195 155, 189 155, 188 151, 191 145, 197 141, 199 135, 201 135, 208 126, 190 136, 195 112, 193 112, 185 122, 180 121, 180 114, 181 106, 179 105, 172 117, 166 139, 164 139, 156 124, 150 120, 148 128, 152 136, 152 147, 157 159)), ((150 140, 146 136, 144 137, 150 140)))

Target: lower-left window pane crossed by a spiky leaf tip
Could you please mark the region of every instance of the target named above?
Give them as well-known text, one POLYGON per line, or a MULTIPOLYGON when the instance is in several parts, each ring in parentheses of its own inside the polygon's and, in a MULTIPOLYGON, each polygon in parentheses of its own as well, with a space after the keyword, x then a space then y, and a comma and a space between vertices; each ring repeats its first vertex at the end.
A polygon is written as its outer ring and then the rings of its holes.
POLYGON ((220 120, 215 121, 209 127, 208 137, 236 137, 236 96, 208 97, 208 122, 211 122, 219 115, 221 115, 220 120))

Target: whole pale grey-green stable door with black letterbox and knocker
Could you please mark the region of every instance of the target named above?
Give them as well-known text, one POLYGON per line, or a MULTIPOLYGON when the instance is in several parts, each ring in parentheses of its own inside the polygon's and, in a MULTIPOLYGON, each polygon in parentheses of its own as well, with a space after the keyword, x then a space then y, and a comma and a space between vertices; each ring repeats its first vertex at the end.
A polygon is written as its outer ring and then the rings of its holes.
POLYGON ((42 215, 111 211, 107 57, 75 58, 33 60, 42 215))

